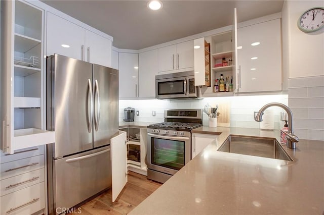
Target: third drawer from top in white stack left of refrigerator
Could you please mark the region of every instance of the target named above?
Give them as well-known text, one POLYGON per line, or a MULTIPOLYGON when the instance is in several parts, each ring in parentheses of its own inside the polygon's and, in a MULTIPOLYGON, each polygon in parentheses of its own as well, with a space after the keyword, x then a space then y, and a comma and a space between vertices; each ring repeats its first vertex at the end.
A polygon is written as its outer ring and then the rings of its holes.
POLYGON ((44 181, 44 169, 34 170, 1 181, 1 196, 44 181))

